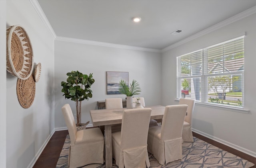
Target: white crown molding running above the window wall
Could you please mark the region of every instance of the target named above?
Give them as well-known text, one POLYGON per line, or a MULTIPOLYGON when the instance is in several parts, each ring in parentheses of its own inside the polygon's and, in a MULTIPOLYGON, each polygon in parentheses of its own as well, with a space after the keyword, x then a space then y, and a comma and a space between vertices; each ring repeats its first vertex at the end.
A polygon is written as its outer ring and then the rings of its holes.
POLYGON ((245 17, 247 17, 247 16, 250 16, 250 15, 252 15, 252 14, 254 14, 254 13, 256 13, 256 6, 250 8, 250 9, 248 9, 248 10, 245 10, 244 12, 241 12, 241 13, 239 13, 239 14, 236 14, 236 15, 234 15, 234 16, 232 16, 232 17, 230 17, 230 18, 228 18, 228 19, 226 19, 226 20, 224 20, 224 21, 221 21, 220 23, 217 23, 217 24, 211 26, 211 27, 208 27, 207 29, 204 29, 204 30, 202 30, 202 31, 200 31, 200 32, 198 32, 198 33, 196 33, 196 34, 190 36, 190 37, 187 37, 186 39, 183 39, 183 40, 181 40, 181 41, 178 41, 177 43, 174 43, 174 44, 172 44, 172 45, 170 45, 170 46, 168 46, 168 47, 162 49, 162 50, 161 50, 161 53, 164 53, 165 51, 168 51, 168 50, 170 50, 170 49, 173 49, 174 47, 177 47, 177 46, 179 46, 179 45, 182 45, 182 44, 184 44, 184 43, 187 43, 188 41, 191 41, 191 40, 193 40, 193 39, 196 39, 196 38, 198 38, 198 37, 200 37, 200 36, 202 36, 202 35, 206 35, 207 33, 210 33, 210 32, 212 32, 212 31, 214 31, 214 30, 217 30, 217 29, 219 29, 219 28, 221 28, 221 27, 224 27, 224 26, 226 26, 226 25, 228 25, 228 24, 230 24, 230 23, 233 23, 233 22, 235 22, 235 21, 238 21, 238 20, 240 20, 240 19, 242 19, 242 18, 245 18, 245 17))

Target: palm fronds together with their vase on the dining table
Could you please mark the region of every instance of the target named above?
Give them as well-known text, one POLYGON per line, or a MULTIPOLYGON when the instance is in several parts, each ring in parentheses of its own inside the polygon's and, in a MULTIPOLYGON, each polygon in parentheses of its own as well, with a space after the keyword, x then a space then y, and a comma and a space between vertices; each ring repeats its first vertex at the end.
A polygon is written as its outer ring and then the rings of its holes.
POLYGON ((141 92, 140 84, 136 80, 132 80, 130 86, 126 85, 124 80, 120 80, 119 82, 119 92, 121 94, 125 94, 126 97, 126 108, 132 109, 132 96, 139 95, 141 92))

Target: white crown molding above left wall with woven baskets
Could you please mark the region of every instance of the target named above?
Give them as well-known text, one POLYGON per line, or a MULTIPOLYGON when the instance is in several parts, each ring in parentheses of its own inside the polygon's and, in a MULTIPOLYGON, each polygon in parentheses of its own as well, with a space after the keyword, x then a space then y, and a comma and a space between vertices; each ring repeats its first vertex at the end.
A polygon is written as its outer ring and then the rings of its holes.
POLYGON ((46 18, 46 16, 45 16, 40 4, 38 3, 38 1, 37 0, 30 0, 30 3, 32 4, 34 9, 38 13, 39 17, 43 21, 44 25, 48 28, 48 30, 50 31, 50 33, 52 34, 52 36, 55 39, 56 34, 55 34, 54 30, 52 29, 52 26, 51 26, 50 22, 48 21, 48 19, 46 18))

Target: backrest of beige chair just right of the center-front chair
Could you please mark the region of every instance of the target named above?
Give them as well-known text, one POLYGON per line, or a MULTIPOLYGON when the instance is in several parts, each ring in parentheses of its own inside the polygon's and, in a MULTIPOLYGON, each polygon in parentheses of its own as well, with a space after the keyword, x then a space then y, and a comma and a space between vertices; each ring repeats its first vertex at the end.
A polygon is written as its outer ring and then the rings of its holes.
POLYGON ((161 126, 161 138, 165 141, 180 138, 188 105, 167 105, 161 126))

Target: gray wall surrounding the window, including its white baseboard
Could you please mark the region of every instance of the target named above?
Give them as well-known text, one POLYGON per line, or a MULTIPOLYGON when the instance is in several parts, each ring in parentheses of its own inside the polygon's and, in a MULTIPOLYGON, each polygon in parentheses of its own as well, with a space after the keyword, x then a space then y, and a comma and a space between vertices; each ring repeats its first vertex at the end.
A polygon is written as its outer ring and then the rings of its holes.
POLYGON ((244 105, 250 112, 239 113, 228 109, 216 109, 197 104, 194 109, 192 127, 206 137, 256 156, 256 14, 250 15, 201 37, 162 53, 162 100, 163 105, 177 104, 176 57, 239 37, 244 38, 244 105), (173 89, 170 89, 173 88, 173 89))

